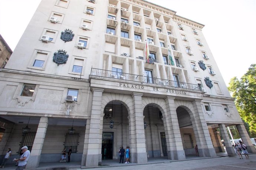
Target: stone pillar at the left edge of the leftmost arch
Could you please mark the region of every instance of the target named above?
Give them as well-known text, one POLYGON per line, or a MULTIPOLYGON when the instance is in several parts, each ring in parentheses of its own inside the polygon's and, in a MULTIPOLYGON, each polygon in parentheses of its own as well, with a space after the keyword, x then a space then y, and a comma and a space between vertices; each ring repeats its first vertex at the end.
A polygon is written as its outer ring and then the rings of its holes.
POLYGON ((103 122, 103 118, 101 118, 101 100, 103 89, 93 88, 92 93, 92 113, 91 120, 86 122, 82 166, 98 166, 98 164, 101 164, 103 122))

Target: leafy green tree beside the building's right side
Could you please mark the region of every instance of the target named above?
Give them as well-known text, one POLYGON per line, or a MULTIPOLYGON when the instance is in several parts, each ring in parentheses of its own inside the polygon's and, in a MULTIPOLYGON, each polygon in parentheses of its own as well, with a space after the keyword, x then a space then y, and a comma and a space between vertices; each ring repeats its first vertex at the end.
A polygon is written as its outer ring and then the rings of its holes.
POLYGON ((256 134, 256 64, 250 65, 240 80, 237 77, 232 78, 228 89, 235 98, 235 105, 241 118, 249 124, 252 137, 256 134))

